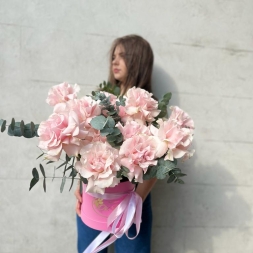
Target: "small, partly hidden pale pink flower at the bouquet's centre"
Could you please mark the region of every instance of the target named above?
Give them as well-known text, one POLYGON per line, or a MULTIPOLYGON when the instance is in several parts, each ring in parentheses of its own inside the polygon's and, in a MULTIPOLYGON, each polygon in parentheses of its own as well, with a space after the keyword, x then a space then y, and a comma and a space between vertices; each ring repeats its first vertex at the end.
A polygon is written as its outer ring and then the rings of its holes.
POLYGON ((151 135, 150 130, 147 126, 140 125, 136 121, 127 121, 124 126, 119 122, 117 123, 116 127, 119 128, 124 140, 138 134, 151 135))

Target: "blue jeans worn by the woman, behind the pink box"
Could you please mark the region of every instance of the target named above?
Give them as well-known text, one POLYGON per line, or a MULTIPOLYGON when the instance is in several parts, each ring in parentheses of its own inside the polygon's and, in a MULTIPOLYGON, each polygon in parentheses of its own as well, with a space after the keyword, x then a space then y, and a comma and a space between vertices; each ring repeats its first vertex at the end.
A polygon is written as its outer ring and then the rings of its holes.
MULTIPOLYGON (((115 242, 116 253, 150 253, 151 252, 151 229, 152 229, 152 209, 151 196, 147 196, 143 203, 142 222, 138 236, 130 240, 124 234, 115 242)), ((77 215, 77 248, 78 253, 83 251, 89 244, 97 237, 100 231, 86 226, 81 218, 77 215)), ((134 237, 136 235, 135 224, 128 230, 128 236, 134 237)), ((107 253, 107 249, 103 249, 100 253, 107 253)))

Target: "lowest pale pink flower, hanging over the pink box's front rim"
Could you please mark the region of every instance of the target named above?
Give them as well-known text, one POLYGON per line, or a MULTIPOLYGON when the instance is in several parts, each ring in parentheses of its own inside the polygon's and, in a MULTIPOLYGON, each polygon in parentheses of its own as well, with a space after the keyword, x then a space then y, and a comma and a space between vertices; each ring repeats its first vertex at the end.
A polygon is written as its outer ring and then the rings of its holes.
POLYGON ((117 171, 120 170, 118 150, 108 143, 93 142, 80 150, 81 160, 76 169, 88 180, 86 192, 104 194, 106 187, 114 187, 120 182, 117 171))

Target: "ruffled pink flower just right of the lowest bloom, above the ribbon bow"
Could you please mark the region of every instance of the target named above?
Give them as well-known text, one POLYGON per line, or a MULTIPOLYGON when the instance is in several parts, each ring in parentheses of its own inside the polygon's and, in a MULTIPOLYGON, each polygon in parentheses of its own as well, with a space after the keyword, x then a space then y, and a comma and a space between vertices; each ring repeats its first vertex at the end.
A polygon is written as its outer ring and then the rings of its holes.
POLYGON ((148 135, 136 135, 123 142, 119 154, 121 165, 130 170, 130 181, 134 178, 136 182, 143 182, 143 173, 146 173, 150 165, 157 164, 156 159, 161 155, 158 153, 161 143, 158 138, 148 135))

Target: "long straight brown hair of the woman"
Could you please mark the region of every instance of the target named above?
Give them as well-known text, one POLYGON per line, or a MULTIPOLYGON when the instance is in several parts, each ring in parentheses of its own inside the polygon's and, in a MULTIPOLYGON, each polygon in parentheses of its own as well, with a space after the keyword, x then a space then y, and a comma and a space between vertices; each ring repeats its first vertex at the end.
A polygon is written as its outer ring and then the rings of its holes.
POLYGON ((109 82, 113 85, 120 85, 120 82, 114 78, 112 72, 113 54, 118 45, 122 45, 125 50, 125 64, 128 71, 127 79, 123 87, 124 90, 121 94, 124 94, 133 86, 152 92, 151 75, 154 55, 149 43, 138 35, 127 35, 113 42, 110 51, 109 82))

